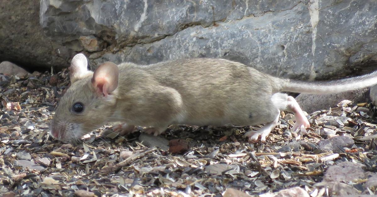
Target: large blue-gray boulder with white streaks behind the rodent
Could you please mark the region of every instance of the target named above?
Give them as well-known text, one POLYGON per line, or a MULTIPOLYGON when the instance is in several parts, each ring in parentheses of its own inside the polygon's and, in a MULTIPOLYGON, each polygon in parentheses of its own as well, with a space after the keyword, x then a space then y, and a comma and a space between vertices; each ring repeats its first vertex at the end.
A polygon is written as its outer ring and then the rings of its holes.
POLYGON ((58 46, 80 50, 80 36, 95 36, 109 46, 92 56, 92 66, 218 57, 310 80, 373 67, 376 17, 374 0, 40 3, 40 24, 58 46))

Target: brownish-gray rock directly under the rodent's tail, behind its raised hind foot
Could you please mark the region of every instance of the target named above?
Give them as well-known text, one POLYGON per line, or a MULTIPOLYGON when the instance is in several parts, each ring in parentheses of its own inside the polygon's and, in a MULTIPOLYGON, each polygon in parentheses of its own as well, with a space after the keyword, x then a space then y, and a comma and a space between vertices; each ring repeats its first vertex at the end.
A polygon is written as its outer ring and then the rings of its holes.
POLYGON ((300 94, 296 97, 296 101, 303 111, 313 113, 314 111, 336 107, 336 104, 344 99, 348 99, 354 103, 367 102, 368 90, 369 88, 365 88, 362 90, 328 95, 300 94))

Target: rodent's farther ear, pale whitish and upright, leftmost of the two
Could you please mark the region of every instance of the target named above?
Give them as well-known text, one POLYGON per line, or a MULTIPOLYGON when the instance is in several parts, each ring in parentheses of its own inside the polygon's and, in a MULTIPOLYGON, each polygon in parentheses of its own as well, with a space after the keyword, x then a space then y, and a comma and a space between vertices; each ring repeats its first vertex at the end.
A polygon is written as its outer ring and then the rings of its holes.
POLYGON ((71 84, 88 73, 88 61, 83 53, 78 53, 73 57, 69 67, 69 77, 71 84))

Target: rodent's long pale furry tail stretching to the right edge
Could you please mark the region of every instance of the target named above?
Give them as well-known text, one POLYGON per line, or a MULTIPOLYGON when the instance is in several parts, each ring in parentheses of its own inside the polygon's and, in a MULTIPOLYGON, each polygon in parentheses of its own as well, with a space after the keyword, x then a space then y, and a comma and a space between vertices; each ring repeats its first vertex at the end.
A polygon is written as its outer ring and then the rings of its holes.
POLYGON ((377 71, 370 74, 356 76, 335 81, 306 82, 289 80, 281 88, 284 92, 297 92, 309 94, 331 94, 358 90, 377 84, 377 71))

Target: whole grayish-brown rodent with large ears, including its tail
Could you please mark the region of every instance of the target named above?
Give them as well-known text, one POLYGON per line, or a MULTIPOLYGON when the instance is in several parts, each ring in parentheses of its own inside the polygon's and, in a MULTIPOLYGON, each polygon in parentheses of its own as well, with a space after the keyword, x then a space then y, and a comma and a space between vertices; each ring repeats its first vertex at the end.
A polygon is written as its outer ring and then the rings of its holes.
POLYGON ((60 98, 50 134, 72 141, 112 122, 121 134, 135 125, 158 135, 169 125, 260 125, 245 133, 248 142, 265 142, 280 111, 293 113, 292 131, 310 123, 296 100, 283 92, 327 94, 377 84, 377 72, 334 81, 284 79, 245 64, 218 58, 192 58, 139 65, 104 62, 89 70, 79 53, 69 67, 70 87, 60 98))

